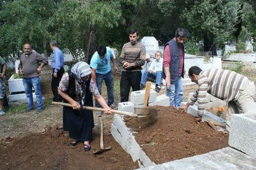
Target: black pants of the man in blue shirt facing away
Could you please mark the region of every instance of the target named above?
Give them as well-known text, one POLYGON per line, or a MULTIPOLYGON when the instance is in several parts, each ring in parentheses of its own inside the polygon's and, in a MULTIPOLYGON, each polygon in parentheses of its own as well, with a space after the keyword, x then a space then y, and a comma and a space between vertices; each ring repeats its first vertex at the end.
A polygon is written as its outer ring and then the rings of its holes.
POLYGON ((53 76, 53 74, 54 74, 54 70, 52 71, 52 94, 53 94, 53 100, 57 102, 61 100, 61 97, 59 96, 59 93, 58 93, 58 86, 60 84, 62 75, 64 74, 64 68, 60 67, 60 70, 57 72, 56 78, 53 76))

